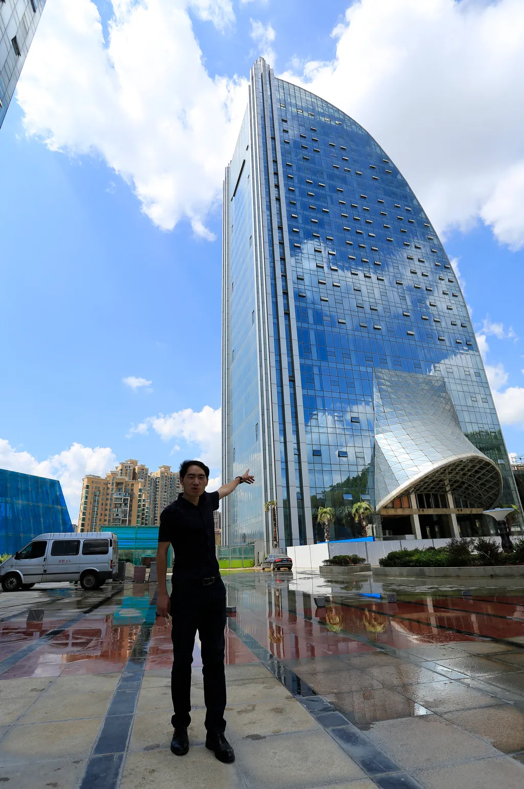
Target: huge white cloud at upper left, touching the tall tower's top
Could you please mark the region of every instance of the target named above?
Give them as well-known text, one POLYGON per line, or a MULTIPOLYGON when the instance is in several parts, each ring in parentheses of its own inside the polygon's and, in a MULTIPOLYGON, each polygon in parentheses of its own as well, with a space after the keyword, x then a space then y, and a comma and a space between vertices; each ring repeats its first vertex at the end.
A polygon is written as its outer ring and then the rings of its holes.
POLYGON ((189 11, 219 30, 229 0, 113 0, 105 42, 91 0, 48 0, 18 81, 24 126, 48 148, 102 157, 163 230, 211 238, 247 81, 210 77, 189 11))

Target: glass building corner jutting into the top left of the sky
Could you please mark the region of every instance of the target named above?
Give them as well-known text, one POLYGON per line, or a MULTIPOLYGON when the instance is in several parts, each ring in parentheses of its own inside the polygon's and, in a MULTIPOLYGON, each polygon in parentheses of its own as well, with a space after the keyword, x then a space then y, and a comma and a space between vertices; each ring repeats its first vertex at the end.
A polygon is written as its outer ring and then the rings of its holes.
POLYGON ((46 0, 0 0, 0 126, 46 0))

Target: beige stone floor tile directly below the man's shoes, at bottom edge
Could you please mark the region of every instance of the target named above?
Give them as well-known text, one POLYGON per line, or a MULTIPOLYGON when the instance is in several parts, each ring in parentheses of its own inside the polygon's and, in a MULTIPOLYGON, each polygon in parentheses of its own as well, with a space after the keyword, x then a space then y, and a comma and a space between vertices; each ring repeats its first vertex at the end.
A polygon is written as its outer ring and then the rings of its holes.
POLYGON ((129 753, 120 789, 236 789, 236 764, 223 765, 205 746, 183 757, 168 750, 129 753))

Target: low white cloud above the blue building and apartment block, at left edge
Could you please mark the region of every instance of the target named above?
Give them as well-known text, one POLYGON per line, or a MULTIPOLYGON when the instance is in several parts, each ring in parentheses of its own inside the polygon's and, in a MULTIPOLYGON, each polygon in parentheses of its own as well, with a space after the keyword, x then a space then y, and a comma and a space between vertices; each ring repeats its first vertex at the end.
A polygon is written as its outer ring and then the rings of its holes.
POLYGON ((74 523, 78 519, 82 477, 87 473, 104 476, 114 465, 115 459, 110 447, 92 449, 73 443, 70 449, 39 462, 29 452, 17 451, 11 447, 9 441, 0 439, 0 468, 60 480, 69 515, 74 523))

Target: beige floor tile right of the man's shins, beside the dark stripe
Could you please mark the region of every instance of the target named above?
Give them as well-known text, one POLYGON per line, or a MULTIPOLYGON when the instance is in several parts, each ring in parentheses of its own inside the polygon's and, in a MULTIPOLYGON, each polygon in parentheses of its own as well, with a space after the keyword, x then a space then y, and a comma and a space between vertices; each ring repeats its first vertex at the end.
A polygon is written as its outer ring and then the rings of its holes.
POLYGON ((226 707, 228 731, 234 739, 319 728, 314 717, 294 698, 226 707))

